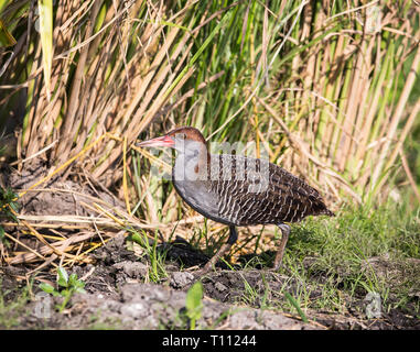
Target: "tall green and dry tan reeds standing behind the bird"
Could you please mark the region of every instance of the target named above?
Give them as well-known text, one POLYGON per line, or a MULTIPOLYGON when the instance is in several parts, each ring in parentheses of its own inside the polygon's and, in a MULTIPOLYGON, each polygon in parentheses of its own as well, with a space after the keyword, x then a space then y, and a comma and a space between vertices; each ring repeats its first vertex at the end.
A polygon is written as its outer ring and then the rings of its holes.
POLYGON ((128 208, 150 221, 177 200, 128 148, 175 124, 254 140, 332 201, 373 202, 401 170, 420 109, 410 0, 22 0, 0 11, 17 38, 0 52, 0 123, 21 119, 18 161, 43 151, 56 168, 83 151, 78 169, 117 188, 126 175, 128 208))

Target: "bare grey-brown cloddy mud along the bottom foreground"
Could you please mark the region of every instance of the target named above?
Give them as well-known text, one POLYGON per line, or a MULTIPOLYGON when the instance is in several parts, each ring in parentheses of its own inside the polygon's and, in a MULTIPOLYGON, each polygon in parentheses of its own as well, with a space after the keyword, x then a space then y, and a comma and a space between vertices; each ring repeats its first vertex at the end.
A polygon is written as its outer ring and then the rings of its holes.
MULTIPOLYGON (((200 279, 194 271, 180 271, 177 262, 166 261, 169 277, 157 284, 148 279, 150 263, 125 249, 126 239, 118 237, 93 253, 95 264, 73 267, 86 283, 87 294, 76 294, 63 312, 54 307, 61 297, 43 294, 34 285, 32 300, 19 314, 13 329, 185 329, 187 321, 182 318, 185 293, 200 279)), ((180 252, 176 248, 176 255, 180 252)), ((169 251, 171 257, 171 251, 169 251)), ((191 256, 191 251, 189 251, 191 256)), ((310 261, 308 261, 310 262, 310 261)), ((6 301, 19 295, 19 285, 13 277, 24 274, 23 268, 2 267, 2 290, 9 292, 6 301)), ((55 282, 54 275, 42 275, 55 282)), ((306 310, 308 323, 298 314, 289 315, 273 309, 260 309, 261 300, 245 302, 246 285, 254 287, 259 297, 269 293, 271 306, 281 302, 286 288, 293 293, 300 283, 290 280, 268 270, 218 268, 201 278, 205 296, 203 316, 198 328, 211 329, 420 329, 420 322, 403 311, 394 309, 379 319, 367 319, 367 301, 360 297, 349 300, 345 314, 306 310)), ((316 280, 314 280, 316 282, 316 280)), ((37 283, 35 280, 35 283, 37 283)), ((322 280, 319 280, 322 290, 322 280)), ((314 290, 316 296, 316 290, 314 290)))

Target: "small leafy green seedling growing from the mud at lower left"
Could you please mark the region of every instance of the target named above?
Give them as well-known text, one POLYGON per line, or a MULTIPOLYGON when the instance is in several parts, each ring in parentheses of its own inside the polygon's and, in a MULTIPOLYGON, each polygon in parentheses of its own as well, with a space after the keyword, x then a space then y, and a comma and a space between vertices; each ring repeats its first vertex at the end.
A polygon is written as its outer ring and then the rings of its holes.
POLYGON ((76 274, 72 274, 68 276, 67 272, 64 267, 58 267, 57 270, 58 278, 57 278, 57 285, 58 287, 63 287, 61 290, 55 289, 50 284, 42 283, 40 284, 40 288, 44 290, 47 294, 51 294, 55 297, 63 297, 63 302, 58 307, 60 312, 64 310, 66 305, 68 304, 68 300, 72 298, 72 296, 75 293, 79 294, 86 294, 85 290, 85 283, 77 278, 76 274))

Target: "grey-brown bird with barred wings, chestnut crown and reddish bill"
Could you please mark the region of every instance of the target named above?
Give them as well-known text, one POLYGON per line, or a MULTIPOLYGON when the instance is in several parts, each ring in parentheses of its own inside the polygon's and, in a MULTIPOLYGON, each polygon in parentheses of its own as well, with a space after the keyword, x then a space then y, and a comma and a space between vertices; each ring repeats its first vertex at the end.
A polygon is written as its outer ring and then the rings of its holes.
POLYGON ((272 263, 277 271, 291 231, 287 222, 308 216, 334 216, 320 193, 303 179, 268 160, 211 154, 203 134, 193 127, 175 128, 136 145, 174 148, 172 183, 176 193, 195 211, 229 228, 226 243, 204 265, 203 274, 215 267, 237 241, 237 227, 278 226, 281 240, 272 263))

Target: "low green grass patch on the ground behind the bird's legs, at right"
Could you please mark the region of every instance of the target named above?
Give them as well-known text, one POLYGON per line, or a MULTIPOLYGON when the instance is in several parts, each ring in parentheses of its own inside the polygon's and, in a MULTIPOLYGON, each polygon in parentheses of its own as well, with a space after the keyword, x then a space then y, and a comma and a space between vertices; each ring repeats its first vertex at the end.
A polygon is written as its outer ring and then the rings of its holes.
POLYGON ((244 278, 238 299, 256 308, 298 311, 302 319, 320 310, 355 309, 366 319, 366 299, 377 297, 381 317, 394 309, 420 317, 419 216, 408 211, 406 200, 376 209, 346 207, 334 219, 293 224, 279 272, 282 284, 255 287, 244 278))

